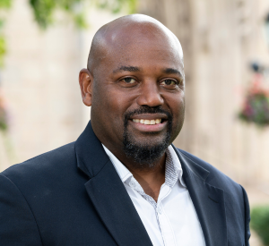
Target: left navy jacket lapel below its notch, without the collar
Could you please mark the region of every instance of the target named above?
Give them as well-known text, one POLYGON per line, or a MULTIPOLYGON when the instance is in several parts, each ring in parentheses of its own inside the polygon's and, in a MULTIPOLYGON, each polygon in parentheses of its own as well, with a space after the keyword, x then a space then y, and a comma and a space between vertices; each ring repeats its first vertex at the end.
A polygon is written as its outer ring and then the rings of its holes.
POLYGON ((133 202, 110 161, 85 186, 118 245, 152 245, 133 202))

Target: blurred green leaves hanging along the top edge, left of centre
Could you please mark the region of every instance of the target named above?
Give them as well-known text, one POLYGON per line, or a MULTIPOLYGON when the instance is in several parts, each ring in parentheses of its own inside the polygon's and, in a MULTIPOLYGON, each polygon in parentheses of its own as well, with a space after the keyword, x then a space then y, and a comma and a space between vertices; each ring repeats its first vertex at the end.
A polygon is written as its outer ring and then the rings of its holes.
MULTIPOLYGON (((4 1, 4 0, 2 0, 4 1)), ((39 23, 42 29, 54 21, 54 13, 58 10, 63 10, 69 13, 74 23, 78 28, 86 28, 86 16, 82 8, 82 4, 87 3, 97 4, 100 8, 110 10, 112 13, 118 13, 121 9, 126 7, 128 13, 134 13, 136 7, 136 0, 30 0, 35 20, 39 23)))

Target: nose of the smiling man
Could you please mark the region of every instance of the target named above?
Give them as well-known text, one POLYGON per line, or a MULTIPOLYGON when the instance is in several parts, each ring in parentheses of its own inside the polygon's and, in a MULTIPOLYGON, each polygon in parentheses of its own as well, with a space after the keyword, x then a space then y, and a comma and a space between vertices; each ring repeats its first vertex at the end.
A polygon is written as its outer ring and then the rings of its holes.
POLYGON ((164 103, 160 88, 156 81, 145 81, 141 86, 139 97, 136 99, 139 106, 161 106, 164 103))

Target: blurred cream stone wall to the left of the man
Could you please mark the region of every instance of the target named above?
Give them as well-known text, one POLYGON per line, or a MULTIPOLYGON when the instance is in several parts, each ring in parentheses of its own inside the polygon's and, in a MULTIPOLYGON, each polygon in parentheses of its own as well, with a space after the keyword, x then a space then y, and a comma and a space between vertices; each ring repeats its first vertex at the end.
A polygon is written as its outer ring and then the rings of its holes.
POLYGON ((0 89, 10 119, 0 131, 0 171, 74 141, 90 119, 78 74, 86 67, 91 39, 119 15, 89 8, 88 30, 77 30, 64 13, 40 30, 28 0, 14 0, 4 31, 8 52, 0 89))

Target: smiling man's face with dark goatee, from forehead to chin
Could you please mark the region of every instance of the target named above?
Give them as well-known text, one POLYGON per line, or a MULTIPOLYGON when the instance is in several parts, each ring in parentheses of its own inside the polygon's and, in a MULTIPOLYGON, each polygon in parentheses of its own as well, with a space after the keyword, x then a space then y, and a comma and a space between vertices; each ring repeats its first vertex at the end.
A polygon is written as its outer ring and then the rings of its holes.
POLYGON ((125 152, 134 162, 151 165, 175 140, 184 121, 178 47, 166 37, 142 31, 127 38, 117 35, 108 43, 92 72, 93 131, 114 154, 125 152), (147 159, 149 153, 152 159, 147 159))

